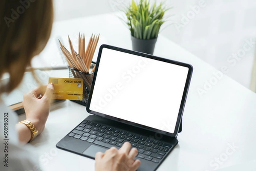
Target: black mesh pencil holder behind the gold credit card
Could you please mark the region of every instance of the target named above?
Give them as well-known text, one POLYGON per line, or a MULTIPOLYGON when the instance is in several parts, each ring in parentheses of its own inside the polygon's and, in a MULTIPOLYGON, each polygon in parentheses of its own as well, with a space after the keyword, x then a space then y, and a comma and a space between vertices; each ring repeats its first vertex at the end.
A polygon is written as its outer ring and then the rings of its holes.
POLYGON ((79 70, 75 70, 70 67, 68 68, 68 71, 69 71, 68 77, 69 78, 82 78, 84 80, 83 99, 81 101, 79 101, 79 100, 72 100, 72 101, 75 101, 76 103, 82 104, 84 106, 87 105, 88 99, 89 99, 90 87, 92 85, 93 75, 94 75, 94 72, 90 73, 90 71, 93 70, 93 67, 95 66, 95 64, 96 64, 95 62, 91 63, 90 69, 89 69, 89 74, 81 72, 79 70))

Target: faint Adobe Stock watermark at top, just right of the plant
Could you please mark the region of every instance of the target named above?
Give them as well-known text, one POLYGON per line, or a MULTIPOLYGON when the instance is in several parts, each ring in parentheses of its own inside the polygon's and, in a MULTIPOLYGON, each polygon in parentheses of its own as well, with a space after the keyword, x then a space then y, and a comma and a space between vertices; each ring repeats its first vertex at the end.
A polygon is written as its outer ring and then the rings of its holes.
POLYGON ((183 29, 186 25, 190 23, 190 21, 195 18, 197 14, 201 12, 201 9, 205 8, 207 6, 206 0, 199 0, 198 3, 194 6, 189 6, 189 11, 185 14, 181 14, 181 20, 180 22, 175 21, 174 26, 177 29, 178 32, 180 32, 180 29, 183 29))

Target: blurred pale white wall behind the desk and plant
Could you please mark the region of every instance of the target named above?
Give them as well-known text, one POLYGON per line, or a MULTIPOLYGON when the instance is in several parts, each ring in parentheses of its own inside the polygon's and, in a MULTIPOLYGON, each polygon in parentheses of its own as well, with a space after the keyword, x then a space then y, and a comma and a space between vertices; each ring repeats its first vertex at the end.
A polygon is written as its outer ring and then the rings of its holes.
MULTIPOLYGON (((130 0, 54 0, 55 20, 117 11, 130 0)), ((157 0, 158 2, 159 0, 157 0)), ((166 0, 174 6, 161 34, 250 86, 256 41, 255 0, 166 0), (244 49, 246 48, 246 49, 244 49)))

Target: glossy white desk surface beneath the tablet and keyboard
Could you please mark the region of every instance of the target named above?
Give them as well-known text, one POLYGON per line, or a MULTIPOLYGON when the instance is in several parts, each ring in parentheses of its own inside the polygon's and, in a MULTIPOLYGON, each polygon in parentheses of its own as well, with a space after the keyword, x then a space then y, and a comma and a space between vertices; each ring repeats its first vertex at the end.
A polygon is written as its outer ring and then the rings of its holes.
MULTIPOLYGON (((130 33, 113 14, 104 14, 54 24, 52 37, 74 32, 101 33, 108 43, 131 49, 130 33), (81 23, 79 27, 75 23, 81 23)), ((194 72, 183 114, 179 144, 158 171, 256 170, 256 94, 223 76, 207 94, 199 96, 216 70, 196 56, 159 36, 154 55, 192 64, 194 72), (230 150, 228 144, 238 148, 230 150), (231 154, 232 153, 232 154, 231 154), (216 158, 221 157, 219 164, 216 158)), ((62 75, 61 75, 62 76, 62 75)), ((36 146, 46 171, 94 170, 94 160, 55 148, 56 143, 88 113, 71 101, 54 104, 44 132, 31 144, 36 146), (85 169, 87 168, 87 169, 85 169)), ((19 116, 20 120, 24 119, 19 116)))

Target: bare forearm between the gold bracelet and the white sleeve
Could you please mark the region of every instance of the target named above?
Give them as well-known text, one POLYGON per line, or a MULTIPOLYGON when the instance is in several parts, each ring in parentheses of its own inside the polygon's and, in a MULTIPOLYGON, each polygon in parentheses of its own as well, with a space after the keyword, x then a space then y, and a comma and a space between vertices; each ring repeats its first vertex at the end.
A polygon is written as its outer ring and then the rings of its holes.
POLYGON ((16 124, 16 130, 20 143, 26 144, 27 142, 29 142, 32 136, 32 132, 26 125, 22 123, 16 124))

